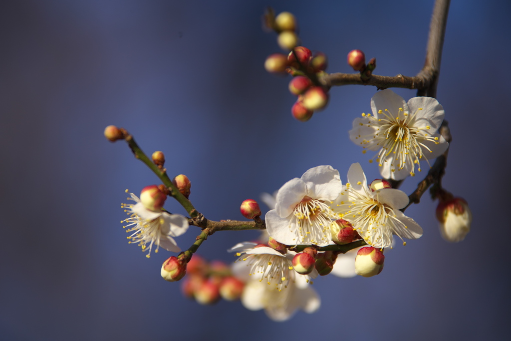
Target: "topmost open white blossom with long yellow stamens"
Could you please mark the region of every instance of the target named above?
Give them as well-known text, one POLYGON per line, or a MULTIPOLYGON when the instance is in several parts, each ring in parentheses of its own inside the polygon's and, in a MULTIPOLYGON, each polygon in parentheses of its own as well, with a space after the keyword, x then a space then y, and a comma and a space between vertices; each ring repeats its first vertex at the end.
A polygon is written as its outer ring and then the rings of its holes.
MULTIPOLYGON (((353 121, 350 139, 365 149, 379 150, 375 155, 385 178, 401 180, 421 171, 421 161, 441 155, 449 143, 438 134, 444 108, 431 97, 408 101, 385 89, 371 99, 373 115, 362 113, 353 121)), ((369 162, 372 162, 370 160, 369 162)))

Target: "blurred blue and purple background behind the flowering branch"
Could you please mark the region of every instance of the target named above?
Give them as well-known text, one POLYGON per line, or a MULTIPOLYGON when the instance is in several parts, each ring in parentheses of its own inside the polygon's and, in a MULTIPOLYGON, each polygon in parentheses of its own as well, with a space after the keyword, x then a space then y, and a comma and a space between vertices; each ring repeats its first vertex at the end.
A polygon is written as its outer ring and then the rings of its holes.
MULTIPOLYGON (((159 276, 169 253, 148 260, 128 245, 124 190, 138 193, 157 178, 124 143, 104 139, 109 124, 128 129, 147 153, 164 151, 169 174, 189 176, 192 202, 214 220, 242 219, 242 200, 317 165, 345 181, 360 162, 378 177, 372 155, 347 133, 376 89, 333 88, 326 110, 295 121, 290 78, 263 69, 279 52, 275 35, 261 30, 268 5, 296 15, 303 44, 328 55, 329 72, 352 72, 345 60, 353 49, 376 57, 379 75, 411 76, 424 64, 433 1, 0 4, 0 339, 506 339, 504 0, 454 1, 447 25, 438 100, 453 142, 444 185, 472 207, 464 242, 440 238, 436 203, 425 195, 407 210, 425 230, 421 239, 395 247, 377 277, 316 280, 320 310, 286 323, 239 302, 188 301, 179 283, 159 276)), ((185 214, 170 199, 166 207, 185 214)), ((185 248, 198 234, 192 226, 177 241, 185 248)), ((231 261, 225 250, 255 236, 219 232, 199 253, 231 261)))

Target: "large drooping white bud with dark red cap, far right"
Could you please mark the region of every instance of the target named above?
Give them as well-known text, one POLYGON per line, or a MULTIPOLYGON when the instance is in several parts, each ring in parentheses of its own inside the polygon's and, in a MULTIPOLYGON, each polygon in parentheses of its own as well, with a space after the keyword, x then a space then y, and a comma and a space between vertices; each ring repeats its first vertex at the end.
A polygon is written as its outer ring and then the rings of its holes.
POLYGON ((451 243, 462 241, 470 232, 472 211, 467 201, 462 198, 440 201, 436 207, 436 218, 440 234, 451 243))

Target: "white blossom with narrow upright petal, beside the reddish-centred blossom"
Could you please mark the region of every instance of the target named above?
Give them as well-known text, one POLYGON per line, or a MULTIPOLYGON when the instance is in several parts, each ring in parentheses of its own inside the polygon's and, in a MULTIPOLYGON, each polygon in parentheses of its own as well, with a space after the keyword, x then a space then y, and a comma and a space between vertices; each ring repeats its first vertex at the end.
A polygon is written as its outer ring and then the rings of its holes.
POLYGON ((384 188, 372 192, 360 164, 351 165, 348 183, 333 204, 334 211, 347 221, 374 247, 392 245, 392 235, 401 239, 417 239, 422 228, 412 218, 399 211, 409 202, 405 192, 384 188))

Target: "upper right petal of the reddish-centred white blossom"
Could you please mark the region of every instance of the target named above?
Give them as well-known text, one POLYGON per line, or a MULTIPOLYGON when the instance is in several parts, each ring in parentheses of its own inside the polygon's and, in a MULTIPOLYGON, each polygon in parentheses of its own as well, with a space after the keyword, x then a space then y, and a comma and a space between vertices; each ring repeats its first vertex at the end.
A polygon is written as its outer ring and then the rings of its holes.
POLYGON ((313 199, 334 200, 342 190, 339 171, 332 166, 311 168, 301 179, 307 185, 307 195, 313 199))

